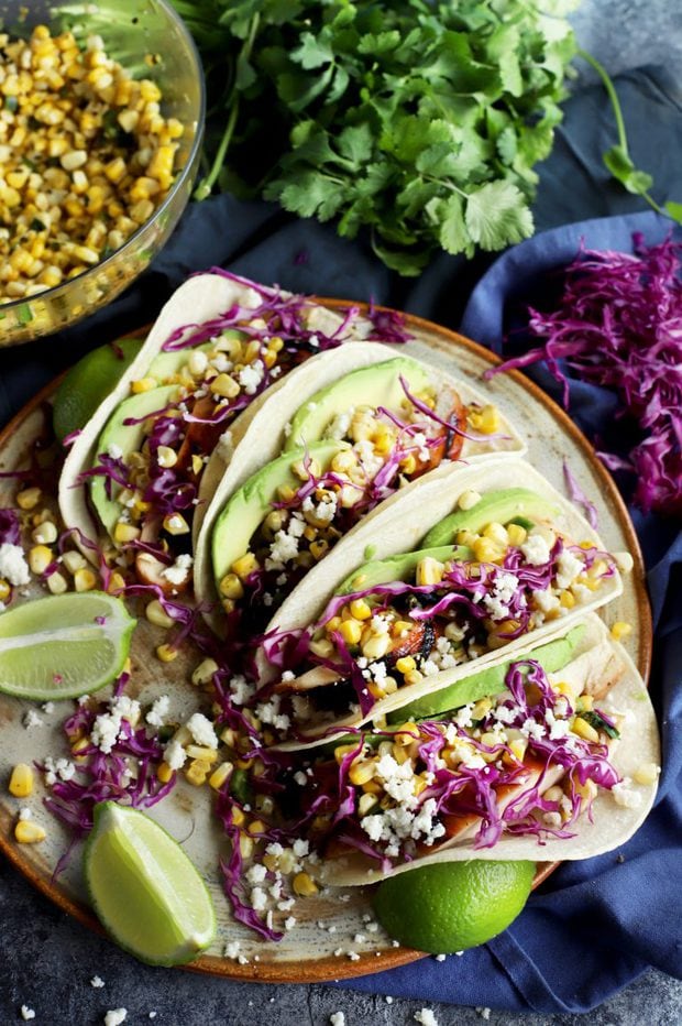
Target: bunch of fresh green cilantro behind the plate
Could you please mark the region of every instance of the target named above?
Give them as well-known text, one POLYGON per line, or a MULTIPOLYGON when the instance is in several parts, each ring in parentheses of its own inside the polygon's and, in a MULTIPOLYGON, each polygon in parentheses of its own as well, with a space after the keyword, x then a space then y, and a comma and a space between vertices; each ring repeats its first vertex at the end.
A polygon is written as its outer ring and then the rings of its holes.
POLYGON ((207 72, 217 186, 369 228, 418 274, 532 233, 573 0, 173 0, 207 72))

